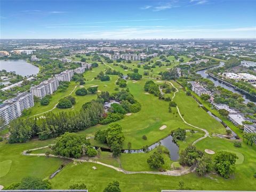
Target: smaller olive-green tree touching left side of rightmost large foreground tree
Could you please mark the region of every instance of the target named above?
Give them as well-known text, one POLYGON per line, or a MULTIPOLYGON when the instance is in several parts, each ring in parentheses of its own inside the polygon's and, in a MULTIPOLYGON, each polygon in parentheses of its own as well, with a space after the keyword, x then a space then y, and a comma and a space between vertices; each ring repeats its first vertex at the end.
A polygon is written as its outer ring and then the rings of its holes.
POLYGON ((197 159, 196 163, 196 172, 197 174, 203 176, 207 173, 210 173, 213 169, 212 158, 206 155, 203 155, 201 158, 197 159))

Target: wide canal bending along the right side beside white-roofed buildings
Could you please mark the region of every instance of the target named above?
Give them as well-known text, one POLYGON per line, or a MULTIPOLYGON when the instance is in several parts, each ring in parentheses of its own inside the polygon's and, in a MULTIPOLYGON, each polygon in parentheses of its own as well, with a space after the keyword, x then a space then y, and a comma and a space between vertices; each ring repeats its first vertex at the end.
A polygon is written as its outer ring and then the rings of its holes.
MULTIPOLYGON (((224 64, 225 64, 225 62, 220 61, 220 65, 219 66, 211 67, 210 69, 217 68, 217 67, 222 67, 224 64)), ((233 87, 225 85, 221 81, 218 81, 217 79, 212 78, 207 73, 205 73, 206 70, 208 70, 208 69, 200 70, 200 71, 197 71, 196 73, 200 74, 204 78, 210 79, 214 83, 215 86, 221 86, 221 87, 224 87, 225 89, 227 89, 229 91, 232 91, 233 93, 238 93, 238 94, 243 95, 245 103, 247 103, 247 102, 256 102, 256 99, 250 97, 250 95, 247 95, 247 94, 244 94, 244 93, 242 93, 240 91, 237 91, 233 87)))

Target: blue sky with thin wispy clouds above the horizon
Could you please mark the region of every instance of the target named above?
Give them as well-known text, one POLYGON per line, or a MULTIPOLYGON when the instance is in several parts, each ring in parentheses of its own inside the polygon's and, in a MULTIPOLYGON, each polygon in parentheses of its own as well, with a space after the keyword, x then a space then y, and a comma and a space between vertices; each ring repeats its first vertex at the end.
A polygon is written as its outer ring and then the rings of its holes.
POLYGON ((1 0, 1 38, 256 38, 256 1, 1 0))

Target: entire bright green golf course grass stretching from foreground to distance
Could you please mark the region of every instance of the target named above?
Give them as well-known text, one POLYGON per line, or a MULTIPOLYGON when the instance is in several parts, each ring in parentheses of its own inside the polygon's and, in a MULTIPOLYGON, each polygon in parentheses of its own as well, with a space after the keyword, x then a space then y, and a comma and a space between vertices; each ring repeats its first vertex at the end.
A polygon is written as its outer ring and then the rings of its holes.
MULTIPOLYGON (((185 57, 183 58, 187 59, 185 57)), ((157 58, 154 59, 157 60, 157 58)), ((170 58, 170 60, 172 59, 170 58)), ((174 62, 175 64, 173 65, 178 65, 177 61, 174 60, 174 62)), ((114 66, 113 64, 108 65, 116 70, 122 71, 124 74, 131 72, 130 70, 125 71, 121 67, 114 66)), ((131 65, 131 68, 137 68, 135 62, 132 62, 129 65, 131 65)), ((106 65, 100 65, 98 68, 93 68, 92 71, 86 71, 84 77, 88 81, 86 81, 84 87, 87 88, 93 85, 98 85, 99 91, 109 91, 110 93, 114 92, 117 76, 111 75, 111 81, 109 82, 100 82, 93 79, 100 71, 104 71, 106 68, 109 67, 106 65)), ((142 74, 143 71, 143 69, 139 69, 139 73, 142 74)), ((156 69, 154 71, 156 72, 156 69)), ((204 132, 183 123, 182 119, 177 114, 176 108, 172 108, 172 113, 169 113, 168 102, 159 100, 152 94, 145 94, 143 86, 147 80, 147 78, 142 78, 137 83, 130 80, 127 81, 127 87, 134 95, 134 98, 141 103, 142 107, 138 113, 134 113, 131 116, 125 116, 124 119, 116 122, 123 127, 125 135, 123 148, 127 148, 128 142, 132 143, 132 149, 140 149, 146 145, 149 146, 154 142, 165 138, 172 130, 177 129, 178 127, 196 131, 196 133, 193 134, 188 131, 186 140, 178 142, 180 150, 185 149, 189 143, 193 143, 198 138, 201 138, 204 135, 204 132), (159 127, 162 125, 166 125, 167 127, 164 130, 159 130, 159 127), (143 140, 142 135, 146 135, 147 140, 143 140)), ((157 81, 155 82, 159 83, 157 81)), ((174 101, 177 102, 181 114, 184 115, 183 118, 185 118, 188 123, 206 129, 210 133, 225 133, 225 128, 207 114, 201 107, 198 107, 198 103, 192 97, 187 96, 178 83, 172 83, 179 89, 174 101)), ((52 109, 58 103, 60 98, 66 97, 73 90, 74 92, 71 93, 71 95, 76 98, 77 103, 73 108, 65 110, 79 110, 83 103, 97 98, 97 94, 88 94, 85 96, 75 95, 75 91, 80 87, 79 85, 76 87, 76 85, 77 84, 74 82, 71 82, 65 92, 54 93, 49 106, 41 107, 39 104, 36 104, 36 106, 32 108, 30 116, 52 109)), ((170 94, 170 96, 172 95, 173 93, 170 94)), ((207 103, 202 103, 206 108, 210 108, 207 106, 207 103)), ((53 109, 54 113, 58 113, 59 111, 61 110, 53 109)), ((212 111, 219 115, 218 111, 212 111)), ((86 135, 86 137, 93 136, 95 132, 100 129, 106 129, 107 126, 108 125, 96 125, 84 131, 80 131, 78 134, 86 135)), ((239 130, 235 129, 234 125, 230 125, 230 127, 231 129, 234 128, 233 130, 238 133, 239 130)), ((241 133, 238 134, 241 135, 241 133)), ((93 139, 90 139, 90 141, 95 146, 105 146, 93 139)), ((47 179, 54 171, 58 170, 61 164, 67 163, 65 160, 60 158, 21 155, 23 150, 47 146, 54 143, 54 139, 44 141, 33 139, 26 143, 17 144, 7 144, 5 142, 6 141, 0 142, 0 185, 8 186, 13 182, 19 182, 22 178, 27 176, 47 179)), ((161 189, 177 189, 179 181, 181 180, 185 182, 185 187, 189 187, 194 190, 256 190, 255 179, 253 178, 253 174, 256 172, 255 145, 251 147, 243 142, 241 148, 236 148, 234 147, 233 140, 206 138, 197 142, 196 147, 202 151, 205 149, 211 149, 217 153, 221 150, 227 150, 237 154, 239 158, 236 162, 235 174, 232 175, 230 179, 223 179, 216 174, 198 177, 195 173, 189 173, 178 177, 142 173, 124 174, 111 169, 110 167, 99 164, 69 162, 61 172, 50 180, 50 182, 52 183, 53 189, 68 189, 71 184, 83 182, 86 184, 90 192, 103 191, 107 184, 113 180, 120 182, 122 192, 155 192, 161 191, 161 189), (97 169, 93 170, 93 166, 97 167, 97 169)), ((47 148, 38 149, 32 153, 45 153, 46 150, 47 148)), ((153 171, 147 164, 147 158, 150 154, 154 153, 155 150, 145 154, 121 154, 118 158, 113 158, 111 153, 102 151, 100 156, 94 157, 93 159, 116 167, 123 167, 123 169, 127 171, 153 171)), ((212 157, 214 158, 214 155, 212 155, 212 157)), ((164 168, 170 169, 173 162, 166 154, 164 154, 164 159, 164 168)))

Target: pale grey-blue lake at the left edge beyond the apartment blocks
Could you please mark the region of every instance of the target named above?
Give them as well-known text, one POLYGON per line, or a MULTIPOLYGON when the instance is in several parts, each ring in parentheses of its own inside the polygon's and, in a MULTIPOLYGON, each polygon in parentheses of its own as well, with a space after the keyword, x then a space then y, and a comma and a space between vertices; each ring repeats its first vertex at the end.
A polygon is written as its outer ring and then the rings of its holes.
POLYGON ((28 63, 26 60, 0 60, 0 70, 15 71, 21 76, 36 75, 39 68, 28 63))

